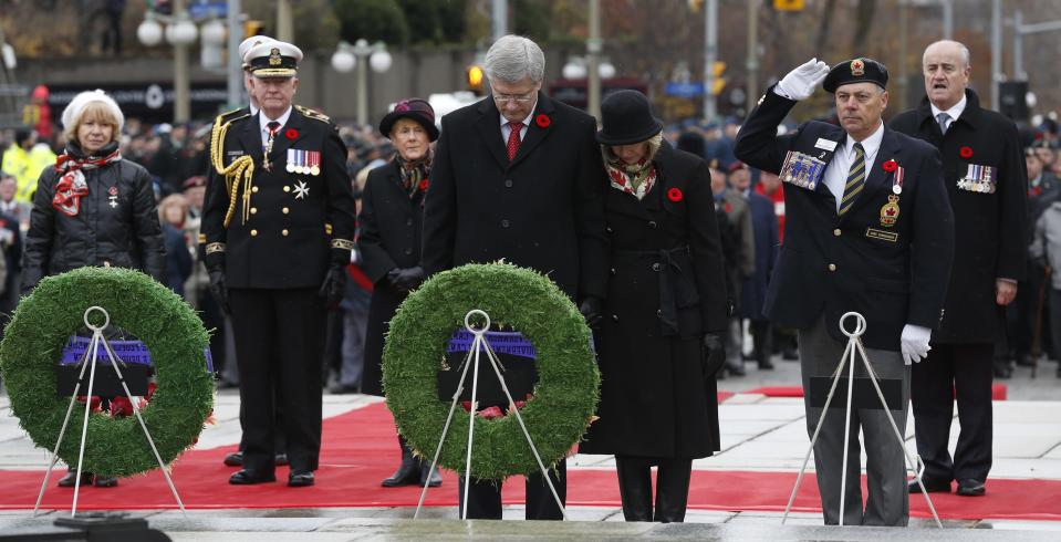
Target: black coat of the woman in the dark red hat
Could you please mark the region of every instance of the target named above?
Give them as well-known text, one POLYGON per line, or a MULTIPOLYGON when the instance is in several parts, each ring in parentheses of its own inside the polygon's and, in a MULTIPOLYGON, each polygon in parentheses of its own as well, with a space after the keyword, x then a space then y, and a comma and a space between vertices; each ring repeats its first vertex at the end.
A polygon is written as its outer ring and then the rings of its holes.
POLYGON ((423 226, 424 192, 417 191, 409 198, 402 187, 396 161, 368 173, 357 216, 361 268, 374 284, 365 335, 365 368, 361 378, 364 394, 383 395, 384 341, 391 319, 408 296, 387 282, 387 272, 419 265, 423 226))

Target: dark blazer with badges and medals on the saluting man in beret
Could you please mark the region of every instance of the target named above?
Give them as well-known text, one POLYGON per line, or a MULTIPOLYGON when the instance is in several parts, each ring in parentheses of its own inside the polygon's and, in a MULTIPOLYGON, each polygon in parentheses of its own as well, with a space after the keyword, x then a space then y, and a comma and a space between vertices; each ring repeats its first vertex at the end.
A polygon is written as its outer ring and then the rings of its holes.
MULTIPOLYGON (((828 165, 845 145, 846 133, 811 121, 778 136, 778 125, 795 103, 769 88, 740 128, 737 157, 782 180, 790 152, 828 165)), ((866 346, 898 351, 905 324, 939 325, 954 256, 954 217, 939 153, 932 145, 885 126, 876 159, 866 167, 865 187, 842 217, 824 176, 814 189, 786 183, 784 243, 764 312, 772 321, 800 330, 824 313, 829 334, 846 342, 840 317, 856 311, 866 320, 862 336, 866 346), (886 171, 888 160, 895 168, 886 171), (896 196, 898 168, 896 209, 888 204, 890 196, 896 196)))

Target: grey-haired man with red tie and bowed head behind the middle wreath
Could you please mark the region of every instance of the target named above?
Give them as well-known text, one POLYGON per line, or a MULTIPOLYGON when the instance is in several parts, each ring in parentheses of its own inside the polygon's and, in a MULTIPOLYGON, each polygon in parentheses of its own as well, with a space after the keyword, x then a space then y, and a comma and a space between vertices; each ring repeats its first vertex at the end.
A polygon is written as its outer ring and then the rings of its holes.
MULTIPOLYGON (((443 117, 424 210, 423 267, 431 274, 505 259, 538 270, 580 303, 592 325, 607 279, 607 181, 596 121, 545 96, 544 70, 533 41, 506 35, 486 56, 491 96, 443 117)), ((564 500, 563 460, 550 478, 564 500)), ((461 503, 468 518, 501 519, 500 483, 470 483, 461 503)), ((527 519, 562 518, 544 478, 528 475, 527 519)))

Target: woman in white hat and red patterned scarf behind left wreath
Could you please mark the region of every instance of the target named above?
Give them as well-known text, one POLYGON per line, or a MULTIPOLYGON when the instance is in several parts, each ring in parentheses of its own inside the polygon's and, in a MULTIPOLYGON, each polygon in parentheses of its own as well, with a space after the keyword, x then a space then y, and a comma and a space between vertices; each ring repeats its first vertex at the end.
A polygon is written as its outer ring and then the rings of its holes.
MULTIPOLYGON (((66 149, 38 179, 25 238, 22 291, 84 265, 116 265, 163 278, 164 252, 147 170, 122 159, 125 115, 103 91, 77 94, 62 116, 66 149)), ((84 473, 82 483, 93 476, 84 473)), ((97 487, 117 484, 97 476, 97 487)), ((73 486, 71 471, 60 486, 73 486)))

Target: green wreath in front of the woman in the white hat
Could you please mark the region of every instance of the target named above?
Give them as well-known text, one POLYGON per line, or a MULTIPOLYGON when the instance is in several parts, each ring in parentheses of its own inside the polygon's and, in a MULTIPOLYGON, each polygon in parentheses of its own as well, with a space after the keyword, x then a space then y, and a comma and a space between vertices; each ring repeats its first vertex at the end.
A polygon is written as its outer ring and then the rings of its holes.
MULTIPOLYGON (((84 312, 93 305, 105 309, 112 326, 129 332, 150 351, 158 388, 142 415, 168 465, 197 440, 214 408, 205 354, 208 337, 184 300, 138 271, 82 268, 45 278, 21 300, 0 343, 11 409, 37 446, 49 450, 55 446, 70 403, 55 393, 56 366, 63 346, 84 327, 84 312)), ((91 320, 102 324, 95 316, 91 320)), ((110 365, 100 369, 113 371, 110 365)), ((66 465, 77 465, 84 413, 83 406, 74 406, 59 449, 66 465)), ((90 415, 85 470, 124 477, 157 467, 135 416, 90 415)))

